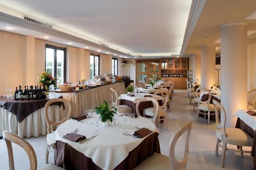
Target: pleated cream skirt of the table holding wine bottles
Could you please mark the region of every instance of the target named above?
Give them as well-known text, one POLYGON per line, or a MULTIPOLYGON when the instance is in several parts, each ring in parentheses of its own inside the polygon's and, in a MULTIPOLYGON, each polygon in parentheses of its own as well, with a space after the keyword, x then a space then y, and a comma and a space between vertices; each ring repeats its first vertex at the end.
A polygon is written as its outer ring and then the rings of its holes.
MULTIPOLYGON (((20 137, 38 137, 39 135, 47 134, 47 124, 44 114, 45 108, 41 108, 27 116, 21 123, 17 121, 16 115, 9 112, 7 109, 0 108, 0 136, 3 136, 3 131, 7 130, 20 137)), ((63 106, 50 106, 48 113, 51 120, 59 121, 65 115, 63 106)))

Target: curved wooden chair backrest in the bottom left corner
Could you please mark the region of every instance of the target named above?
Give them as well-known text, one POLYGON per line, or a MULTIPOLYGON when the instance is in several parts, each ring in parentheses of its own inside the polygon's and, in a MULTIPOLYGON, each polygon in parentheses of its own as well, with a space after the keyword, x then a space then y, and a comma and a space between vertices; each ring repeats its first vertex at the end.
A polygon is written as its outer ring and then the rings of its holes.
POLYGON ((7 145, 10 170, 14 170, 13 150, 12 150, 11 142, 16 143, 17 145, 19 145, 25 150, 25 152, 29 157, 30 170, 36 170, 37 168, 36 154, 31 144, 29 144, 29 142, 19 137, 18 135, 15 135, 8 131, 3 132, 3 138, 5 139, 5 142, 7 145))

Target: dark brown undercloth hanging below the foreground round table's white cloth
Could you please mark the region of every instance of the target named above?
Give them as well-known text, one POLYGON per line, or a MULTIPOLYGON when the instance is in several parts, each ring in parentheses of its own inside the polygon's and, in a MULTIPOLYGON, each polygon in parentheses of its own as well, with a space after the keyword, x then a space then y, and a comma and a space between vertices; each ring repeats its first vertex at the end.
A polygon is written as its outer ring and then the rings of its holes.
MULTIPOLYGON (((154 153, 160 153, 158 133, 146 137, 129 155, 115 167, 115 170, 133 169, 140 162, 154 153)), ((57 140, 54 150, 54 164, 66 169, 100 170, 91 158, 72 148, 68 143, 57 140)))

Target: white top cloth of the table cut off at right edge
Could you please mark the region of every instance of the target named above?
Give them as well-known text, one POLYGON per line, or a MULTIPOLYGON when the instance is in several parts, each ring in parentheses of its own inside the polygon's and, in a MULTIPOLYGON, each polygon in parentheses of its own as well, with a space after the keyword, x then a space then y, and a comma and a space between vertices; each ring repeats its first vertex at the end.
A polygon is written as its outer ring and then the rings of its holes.
MULTIPOLYGON (((251 127, 251 129, 256 130, 256 116, 251 116, 246 113, 248 110, 238 110, 234 116, 239 117, 243 122, 251 127)), ((256 110, 253 110, 256 111, 256 110)))

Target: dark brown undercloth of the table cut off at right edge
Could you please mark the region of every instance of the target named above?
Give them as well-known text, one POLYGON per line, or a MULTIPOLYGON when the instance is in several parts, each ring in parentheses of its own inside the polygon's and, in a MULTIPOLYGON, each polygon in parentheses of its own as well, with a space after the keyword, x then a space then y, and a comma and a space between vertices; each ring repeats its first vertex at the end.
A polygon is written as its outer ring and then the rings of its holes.
POLYGON ((256 130, 253 130, 251 127, 246 125, 240 118, 237 119, 236 128, 239 128, 247 132, 251 137, 253 137, 253 143, 251 146, 251 156, 253 157, 253 170, 256 170, 256 130))

